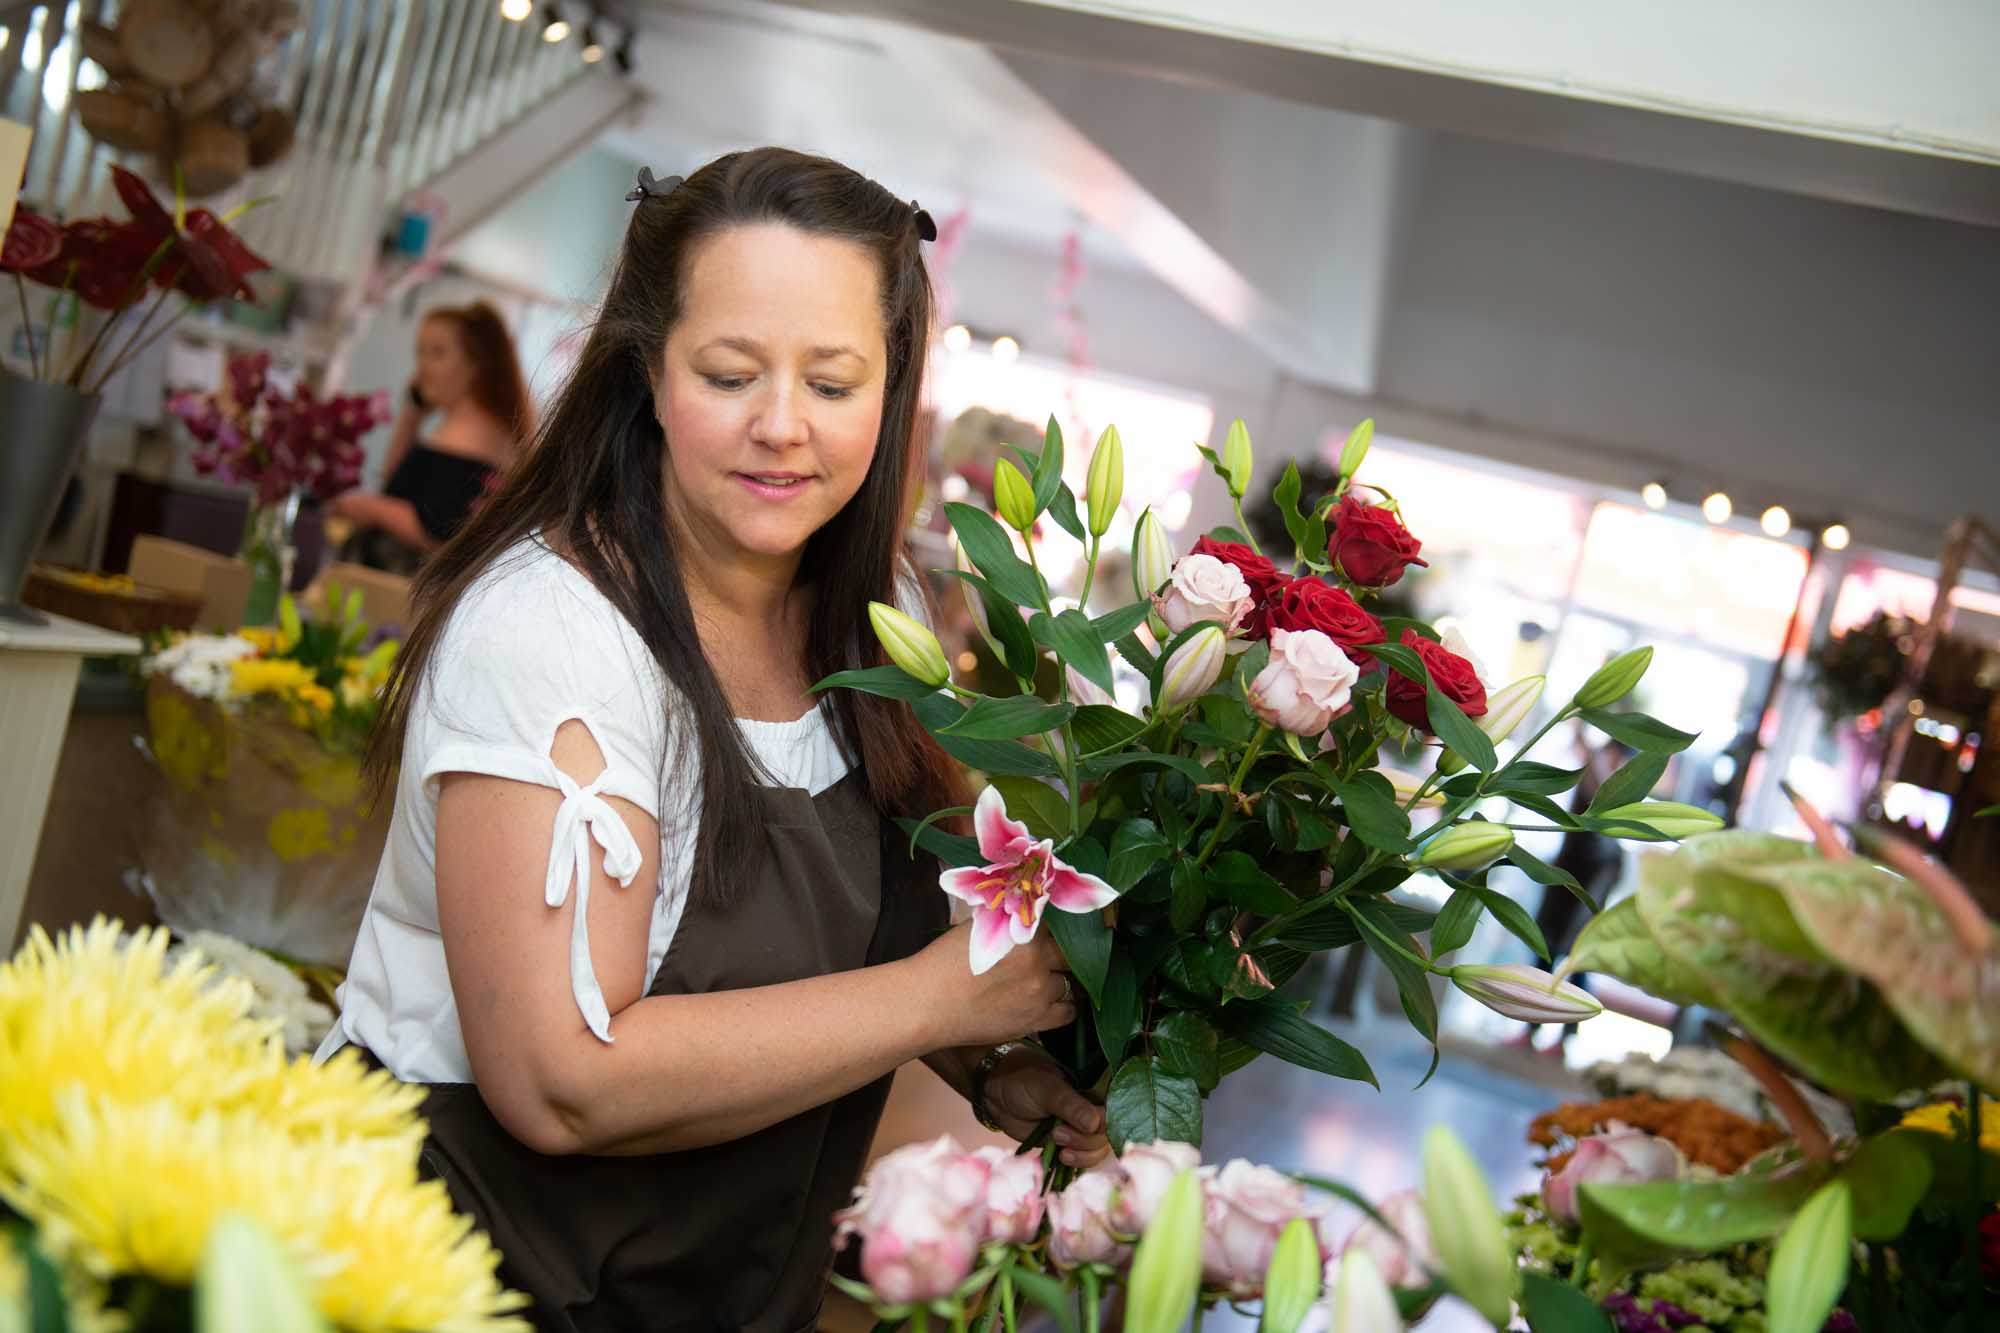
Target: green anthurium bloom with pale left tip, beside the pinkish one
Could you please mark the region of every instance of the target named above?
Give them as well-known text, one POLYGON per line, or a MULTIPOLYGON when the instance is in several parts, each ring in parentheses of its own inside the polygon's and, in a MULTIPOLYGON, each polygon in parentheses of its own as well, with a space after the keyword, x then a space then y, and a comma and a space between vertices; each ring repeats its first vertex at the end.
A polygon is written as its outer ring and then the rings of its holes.
POLYGON ((1880 993, 1820 953, 1778 889, 1752 879, 1760 867, 1658 857, 1646 869, 1638 911, 1660 949, 1800 1073, 1870 1101, 1944 1077, 1880 993))

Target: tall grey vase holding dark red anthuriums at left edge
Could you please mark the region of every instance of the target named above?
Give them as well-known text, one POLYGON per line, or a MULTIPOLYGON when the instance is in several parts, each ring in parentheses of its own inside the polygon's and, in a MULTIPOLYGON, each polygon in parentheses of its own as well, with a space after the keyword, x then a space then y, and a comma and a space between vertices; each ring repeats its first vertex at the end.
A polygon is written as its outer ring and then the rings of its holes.
POLYGON ((0 620, 48 624, 22 606, 20 588, 96 414, 98 394, 0 372, 0 620))

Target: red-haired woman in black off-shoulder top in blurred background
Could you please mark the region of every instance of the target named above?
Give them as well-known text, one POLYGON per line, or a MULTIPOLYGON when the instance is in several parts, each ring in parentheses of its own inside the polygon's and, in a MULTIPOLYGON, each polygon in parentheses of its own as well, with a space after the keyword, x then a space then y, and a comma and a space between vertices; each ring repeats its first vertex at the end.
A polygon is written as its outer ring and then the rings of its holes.
POLYGON ((350 490, 332 512, 356 526, 350 556, 410 572, 464 526, 520 456, 534 404, 500 312, 438 306, 416 328, 416 374, 388 440, 382 494, 350 490), (434 414, 444 420, 420 440, 434 414))

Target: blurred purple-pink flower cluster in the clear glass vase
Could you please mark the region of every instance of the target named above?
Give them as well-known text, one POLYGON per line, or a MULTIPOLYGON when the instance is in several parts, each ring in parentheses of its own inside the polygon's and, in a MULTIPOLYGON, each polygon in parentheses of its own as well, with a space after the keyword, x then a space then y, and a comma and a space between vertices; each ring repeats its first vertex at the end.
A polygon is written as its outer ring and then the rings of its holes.
POLYGON ((224 386, 174 394, 168 410, 198 442, 194 468, 256 490, 274 504, 294 490, 328 500, 362 478, 362 436, 390 418, 388 394, 322 398, 300 384, 270 382, 270 354, 230 356, 224 386))

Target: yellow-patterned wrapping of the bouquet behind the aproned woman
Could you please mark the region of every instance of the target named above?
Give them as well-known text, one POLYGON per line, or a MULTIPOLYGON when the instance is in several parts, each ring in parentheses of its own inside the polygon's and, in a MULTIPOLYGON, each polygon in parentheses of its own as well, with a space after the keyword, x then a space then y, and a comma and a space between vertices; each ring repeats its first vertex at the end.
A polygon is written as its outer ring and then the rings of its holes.
POLYGON ((146 731, 162 781, 138 881, 160 921, 346 967, 390 815, 360 757, 300 731, 286 705, 226 709, 166 677, 148 685, 146 731))

